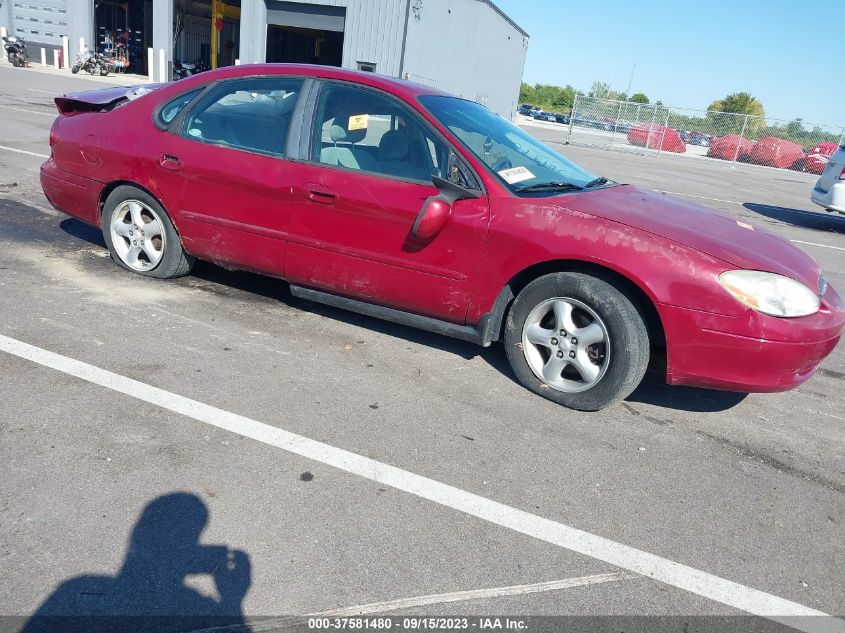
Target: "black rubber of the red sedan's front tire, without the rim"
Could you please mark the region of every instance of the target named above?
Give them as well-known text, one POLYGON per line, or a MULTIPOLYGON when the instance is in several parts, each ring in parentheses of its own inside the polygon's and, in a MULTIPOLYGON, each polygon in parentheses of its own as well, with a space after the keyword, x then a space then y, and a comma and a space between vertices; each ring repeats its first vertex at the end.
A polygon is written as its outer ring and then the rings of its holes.
POLYGON ((648 330, 634 302, 610 280, 593 274, 552 273, 529 283, 511 305, 504 338, 508 361, 523 386, 580 411, 598 411, 630 395, 640 384, 649 362, 648 330), (550 387, 531 370, 523 353, 523 327, 529 314, 536 306, 558 297, 574 299, 590 308, 607 330, 607 367, 585 391, 550 387))

